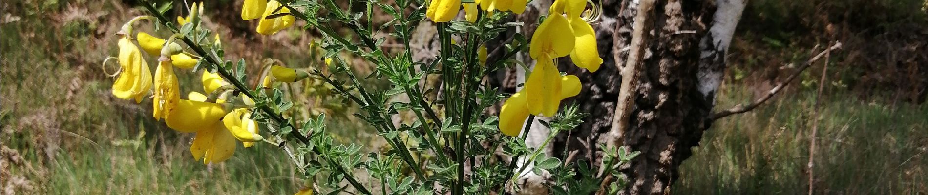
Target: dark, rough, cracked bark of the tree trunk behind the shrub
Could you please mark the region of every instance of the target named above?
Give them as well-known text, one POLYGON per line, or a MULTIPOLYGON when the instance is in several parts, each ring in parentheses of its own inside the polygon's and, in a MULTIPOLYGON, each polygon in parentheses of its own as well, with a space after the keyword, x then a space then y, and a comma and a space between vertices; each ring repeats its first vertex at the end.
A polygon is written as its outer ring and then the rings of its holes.
MULTIPOLYGON (((569 59, 561 59, 561 70, 579 74, 584 91, 574 98, 581 109, 593 115, 575 130, 573 137, 599 140, 599 134, 612 128, 612 118, 618 99, 619 66, 628 57, 631 32, 636 16, 637 1, 603 1, 603 20, 595 27, 603 67, 595 73, 574 67, 569 59), (613 34, 618 33, 618 34, 613 34), (614 57, 613 35, 618 54, 614 57)), ((700 91, 698 73, 702 58, 700 43, 708 32, 715 13, 713 1, 659 0, 653 11, 647 43, 634 89, 636 102, 629 115, 628 128, 622 129, 623 145, 642 152, 620 171, 629 178, 624 194, 663 194, 676 180, 677 167, 691 155, 702 132, 711 125, 714 97, 700 91)), ((724 50, 723 50, 724 51, 724 50)), ((724 53, 723 53, 724 54, 724 53)), ((722 55, 724 56, 724 55, 722 55)), ((722 66, 724 67, 724 66, 722 66)), ((720 72, 716 68, 709 72, 720 72)), ((720 73, 719 73, 720 74, 720 73)), ((717 88, 717 82, 715 83, 717 88)), ((715 88, 712 88, 713 90, 715 88)), ((555 151, 579 150, 582 155, 598 162, 601 153, 596 144, 583 144, 575 138, 561 136, 555 151)))

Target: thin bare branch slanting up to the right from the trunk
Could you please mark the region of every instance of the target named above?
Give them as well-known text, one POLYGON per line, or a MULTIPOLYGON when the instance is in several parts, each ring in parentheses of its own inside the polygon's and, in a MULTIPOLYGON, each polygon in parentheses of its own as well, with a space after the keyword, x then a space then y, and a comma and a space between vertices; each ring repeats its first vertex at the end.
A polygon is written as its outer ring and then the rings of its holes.
POLYGON ((717 112, 712 115, 712 119, 718 120, 719 118, 722 118, 725 116, 741 114, 741 113, 754 110, 754 108, 756 108, 758 105, 766 103, 767 100, 770 100, 770 98, 773 97, 773 95, 776 95, 777 92, 780 92, 781 90, 783 90, 783 88, 786 87, 786 85, 789 85, 790 82, 792 82, 793 79, 796 79, 796 77, 798 77, 799 74, 803 73, 803 71, 806 70, 806 68, 811 67, 813 63, 818 61, 818 58, 821 58, 822 56, 824 56, 825 54, 828 54, 832 50, 838 50, 838 49, 841 49, 841 43, 835 42, 833 45, 831 45, 831 47, 829 47, 825 51, 818 53, 818 55, 815 55, 814 57, 812 57, 812 59, 809 59, 808 61, 806 61, 806 63, 804 63, 801 67, 799 67, 799 69, 793 72, 793 75, 790 75, 790 77, 786 78, 786 80, 783 80, 782 82, 778 83, 777 86, 774 87, 772 90, 767 91, 767 95, 764 95, 763 97, 758 98, 757 100, 754 100, 754 103, 751 103, 748 105, 738 104, 738 105, 735 105, 734 107, 717 112))

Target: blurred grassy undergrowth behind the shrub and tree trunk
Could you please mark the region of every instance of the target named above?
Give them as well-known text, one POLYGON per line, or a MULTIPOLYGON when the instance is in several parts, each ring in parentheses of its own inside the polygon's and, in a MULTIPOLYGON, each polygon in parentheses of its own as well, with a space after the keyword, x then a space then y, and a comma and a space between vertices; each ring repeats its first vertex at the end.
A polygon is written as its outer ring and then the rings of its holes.
MULTIPOLYGON (((754 112, 717 121, 671 192, 805 193, 818 100, 819 192, 928 193, 926 6, 923 0, 749 1, 718 108, 767 91, 816 43, 841 41, 844 50, 831 56, 821 97, 819 63, 754 112)), ((269 144, 239 148, 224 164, 196 163, 187 152, 192 135, 152 120, 148 104, 110 95, 112 79, 99 63, 116 54, 113 33, 140 13, 133 5, 19 0, 0 3, 0 12, 3 194, 290 194, 302 184, 285 154, 269 144)), ((255 24, 238 14, 213 13, 208 27, 228 34, 223 42, 232 58, 319 60, 299 57, 310 52, 312 34, 256 36, 247 26, 255 24)), ((197 80, 181 81, 200 87, 197 80)), ((343 116, 354 112, 350 105, 304 104, 333 112, 338 118, 329 121, 340 122, 329 127, 341 129, 341 141, 359 141, 368 150, 383 145, 369 141, 364 124, 343 116)))

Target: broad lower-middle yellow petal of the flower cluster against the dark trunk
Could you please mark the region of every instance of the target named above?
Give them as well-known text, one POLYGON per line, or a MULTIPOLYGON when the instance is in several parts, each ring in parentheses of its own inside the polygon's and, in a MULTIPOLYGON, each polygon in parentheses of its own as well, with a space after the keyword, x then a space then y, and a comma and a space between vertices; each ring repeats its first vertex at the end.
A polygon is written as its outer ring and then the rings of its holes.
POLYGON ((554 116, 561 104, 561 72, 548 55, 538 60, 525 80, 525 99, 532 115, 554 116))

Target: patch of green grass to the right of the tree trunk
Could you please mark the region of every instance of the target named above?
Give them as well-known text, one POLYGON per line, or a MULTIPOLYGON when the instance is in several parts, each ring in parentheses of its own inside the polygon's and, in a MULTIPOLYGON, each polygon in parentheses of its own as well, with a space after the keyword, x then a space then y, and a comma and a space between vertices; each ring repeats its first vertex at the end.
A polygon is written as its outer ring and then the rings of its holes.
MULTIPOLYGON (((735 86, 718 108, 753 100, 735 86)), ((806 194, 815 91, 715 121, 682 165, 675 194, 806 194)), ((821 194, 919 194, 928 183, 928 105, 821 99, 814 174, 821 194)))

